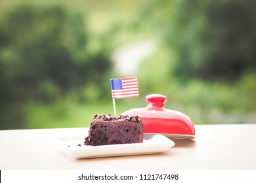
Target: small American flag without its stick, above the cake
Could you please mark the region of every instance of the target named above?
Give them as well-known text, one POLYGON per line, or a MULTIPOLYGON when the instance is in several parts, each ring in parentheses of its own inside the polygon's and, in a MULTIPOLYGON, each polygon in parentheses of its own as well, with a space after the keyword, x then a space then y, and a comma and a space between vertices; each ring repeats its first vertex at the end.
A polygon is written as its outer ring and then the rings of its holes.
POLYGON ((110 79, 112 98, 121 99, 129 97, 138 97, 137 77, 110 79))

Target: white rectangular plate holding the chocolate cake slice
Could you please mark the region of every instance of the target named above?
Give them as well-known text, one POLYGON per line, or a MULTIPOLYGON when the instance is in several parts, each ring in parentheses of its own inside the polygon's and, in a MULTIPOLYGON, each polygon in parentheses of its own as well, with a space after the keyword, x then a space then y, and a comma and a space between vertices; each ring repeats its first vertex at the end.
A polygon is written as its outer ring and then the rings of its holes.
POLYGON ((144 134, 142 143, 113 144, 104 146, 85 146, 83 141, 87 135, 58 137, 63 152, 75 159, 100 158, 108 156, 131 156, 140 154, 158 154, 175 145, 171 139, 163 135, 144 134), (78 146, 81 144, 81 146, 78 146))

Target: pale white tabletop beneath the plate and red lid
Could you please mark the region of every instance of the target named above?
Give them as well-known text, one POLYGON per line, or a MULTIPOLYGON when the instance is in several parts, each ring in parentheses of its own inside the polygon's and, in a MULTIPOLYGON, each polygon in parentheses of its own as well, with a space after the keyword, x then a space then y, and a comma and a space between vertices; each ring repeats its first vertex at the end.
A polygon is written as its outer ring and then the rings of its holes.
POLYGON ((70 158, 54 137, 88 128, 0 130, 0 169, 256 169, 256 124, 195 125, 196 139, 160 154, 70 158))

